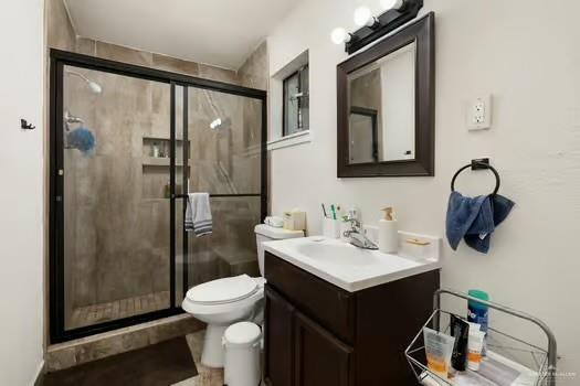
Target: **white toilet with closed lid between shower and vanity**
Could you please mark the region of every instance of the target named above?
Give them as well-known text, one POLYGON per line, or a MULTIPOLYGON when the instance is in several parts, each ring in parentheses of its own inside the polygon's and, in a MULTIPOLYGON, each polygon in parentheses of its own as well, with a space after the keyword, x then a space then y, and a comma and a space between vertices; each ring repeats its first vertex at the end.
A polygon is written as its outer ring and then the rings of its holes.
MULTIPOLYGON (((260 275, 264 275, 262 243, 304 237, 302 230, 274 228, 265 224, 255 226, 260 275)), ((208 324, 201 363, 209 367, 223 367, 222 336, 230 324, 253 320, 262 323, 265 279, 241 275, 204 282, 191 288, 181 307, 208 324)))

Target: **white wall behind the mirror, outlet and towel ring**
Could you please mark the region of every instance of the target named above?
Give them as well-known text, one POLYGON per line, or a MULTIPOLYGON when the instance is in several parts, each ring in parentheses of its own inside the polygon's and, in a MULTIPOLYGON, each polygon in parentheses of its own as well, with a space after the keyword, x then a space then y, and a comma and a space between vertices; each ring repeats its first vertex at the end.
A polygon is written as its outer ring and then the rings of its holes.
MULTIPOLYGON (((379 1, 366 2, 377 9, 379 1)), ((491 157, 517 208, 488 256, 445 243, 443 286, 486 289, 540 317, 557 334, 560 368, 580 373, 580 2, 426 0, 421 13, 436 12, 436 176, 338 180, 335 82, 346 54, 329 33, 354 30, 361 3, 303 0, 268 37, 271 74, 309 50, 314 137, 272 153, 273 212, 303 207, 317 233, 323 201, 357 204, 366 223, 393 205, 402 229, 444 236, 451 176, 472 158, 491 157), (482 93, 495 96, 494 128, 470 133, 465 105, 482 93)), ((493 182, 484 174, 467 173, 460 187, 485 193, 493 182)))

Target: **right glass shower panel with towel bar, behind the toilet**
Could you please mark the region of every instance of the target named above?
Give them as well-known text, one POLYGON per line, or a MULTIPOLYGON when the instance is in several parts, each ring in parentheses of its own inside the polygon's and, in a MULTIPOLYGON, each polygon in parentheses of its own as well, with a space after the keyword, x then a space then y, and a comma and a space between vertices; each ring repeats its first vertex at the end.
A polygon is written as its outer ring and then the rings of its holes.
POLYGON ((265 213, 266 167, 264 100, 197 87, 184 93, 188 168, 181 183, 188 192, 210 193, 213 233, 183 233, 183 291, 223 277, 260 275, 254 226, 265 213))

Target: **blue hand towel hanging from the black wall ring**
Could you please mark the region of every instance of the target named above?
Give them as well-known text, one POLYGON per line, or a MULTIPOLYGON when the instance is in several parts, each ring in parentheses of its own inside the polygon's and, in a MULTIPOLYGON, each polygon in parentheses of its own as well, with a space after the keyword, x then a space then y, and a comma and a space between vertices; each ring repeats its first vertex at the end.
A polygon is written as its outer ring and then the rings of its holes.
POLYGON ((470 247, 487 254, 495 227, 504 222, 514 205, 499 194, 466 197, 452 192, 445 224, 451 247, 456 250, 464 238, 470 247))

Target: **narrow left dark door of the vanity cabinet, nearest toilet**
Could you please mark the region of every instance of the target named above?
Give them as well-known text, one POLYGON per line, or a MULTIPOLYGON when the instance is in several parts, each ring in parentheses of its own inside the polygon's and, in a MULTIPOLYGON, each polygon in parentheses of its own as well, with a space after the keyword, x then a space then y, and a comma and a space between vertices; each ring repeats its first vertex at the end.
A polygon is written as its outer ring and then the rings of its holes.
POLYGON ((266 285, 265 369, 271 386, 293 386, 294 307, 266 285))

